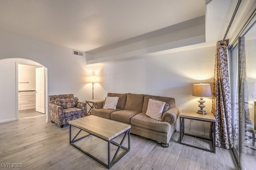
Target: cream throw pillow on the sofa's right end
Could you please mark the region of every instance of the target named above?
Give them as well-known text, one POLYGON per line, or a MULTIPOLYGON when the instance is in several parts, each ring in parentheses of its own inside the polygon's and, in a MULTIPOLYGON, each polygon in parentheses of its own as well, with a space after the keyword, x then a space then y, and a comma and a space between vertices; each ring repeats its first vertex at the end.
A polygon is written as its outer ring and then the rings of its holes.
POLYGON ((148 100, 148 109, 146 111, 146 115, 149 117, 156 119, 156 120, 161 120, 162 118, 162 111, 164 109, 164 105, 166 103, 162 101, 157 101, 157 100, 148 100))

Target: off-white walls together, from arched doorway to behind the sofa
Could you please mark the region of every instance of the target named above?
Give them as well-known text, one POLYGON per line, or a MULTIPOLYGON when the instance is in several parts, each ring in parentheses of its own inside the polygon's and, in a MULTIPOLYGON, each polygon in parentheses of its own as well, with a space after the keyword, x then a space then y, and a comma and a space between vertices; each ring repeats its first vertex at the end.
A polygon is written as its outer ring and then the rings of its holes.
MULTIPOLYGON (((180 111, 197 111, 199 98, 192 96, 192 84, 213 82, 215 46, 86 65, 86 58, 72 55, 72 49, 0 31, 0 59, 4 59, 0 60, 4 80, 0 91, 5 96, 0 99, 0 122, 16 116, 16 59, 6 58, 30 59, 48 68, 48 95, 74 93, 80 101, 91 99, 88 76, 95 74, 100 76, 100 82, 94 85, 95 99, 104 99, 108 92, 152 94, 174 97, 180 111)), ((212 99, 205 100, 205 110, 210 112, 212 99)), ((201 122, 193 122, 193 126, 199 131, 203 128, 201 122)))

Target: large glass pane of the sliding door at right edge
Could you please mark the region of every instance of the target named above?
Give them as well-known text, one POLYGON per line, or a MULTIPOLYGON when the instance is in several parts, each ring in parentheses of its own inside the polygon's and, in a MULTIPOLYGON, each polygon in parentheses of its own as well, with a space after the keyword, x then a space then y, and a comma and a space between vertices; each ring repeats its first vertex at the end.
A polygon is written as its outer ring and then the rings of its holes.
POLYGON ((255 169, 256 25, 250 23, 239 38, 240 167, 255 169))

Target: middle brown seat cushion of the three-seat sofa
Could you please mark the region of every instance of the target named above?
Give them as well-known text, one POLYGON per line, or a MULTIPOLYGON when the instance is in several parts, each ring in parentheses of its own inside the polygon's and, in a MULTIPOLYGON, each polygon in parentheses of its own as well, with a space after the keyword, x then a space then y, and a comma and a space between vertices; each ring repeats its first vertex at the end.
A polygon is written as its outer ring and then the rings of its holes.
POLYGON ((110 118, 125 123, 131 123, 131 118, 138 113, 140 112, 133 110, 120 110, 111 113, 110 118))

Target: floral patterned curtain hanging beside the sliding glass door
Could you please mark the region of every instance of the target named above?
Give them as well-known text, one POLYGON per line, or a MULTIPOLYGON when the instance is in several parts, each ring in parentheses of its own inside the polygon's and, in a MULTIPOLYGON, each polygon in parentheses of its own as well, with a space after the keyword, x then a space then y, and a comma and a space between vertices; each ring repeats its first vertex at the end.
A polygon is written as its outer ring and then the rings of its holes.
POLYGON ((216 44, 212 113, 216 118, 215 145, 225 149, 233 148, 231 123, 231 94, 228 70, 228 41, 216 44))

